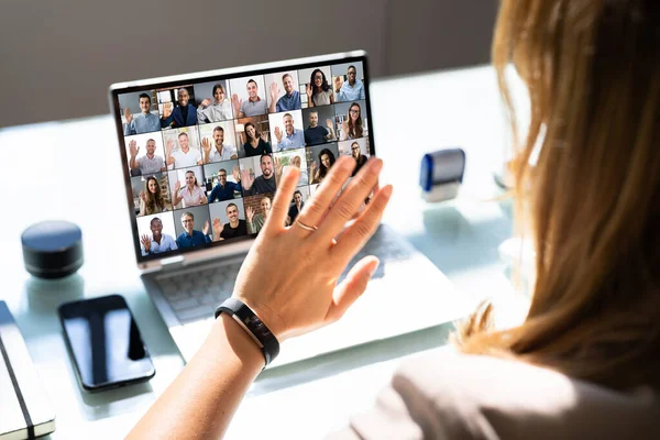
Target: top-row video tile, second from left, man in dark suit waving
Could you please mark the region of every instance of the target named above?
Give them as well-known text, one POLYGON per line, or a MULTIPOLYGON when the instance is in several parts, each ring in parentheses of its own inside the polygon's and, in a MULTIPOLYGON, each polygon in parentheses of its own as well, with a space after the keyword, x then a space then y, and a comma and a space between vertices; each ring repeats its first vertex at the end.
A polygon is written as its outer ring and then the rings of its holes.
POLYGON ((156 90, 161 111, 161 128, 179 129, 197 123, 195 88, 178 86, 156 90))

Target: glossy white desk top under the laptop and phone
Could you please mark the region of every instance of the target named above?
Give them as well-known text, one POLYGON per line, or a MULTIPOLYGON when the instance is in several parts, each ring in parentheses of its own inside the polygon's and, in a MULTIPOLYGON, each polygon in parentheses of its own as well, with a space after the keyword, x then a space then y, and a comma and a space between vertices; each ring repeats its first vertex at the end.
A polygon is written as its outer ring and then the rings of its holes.
MULTIPOLYGON (((507 140, 494 72, 477 67, 374 81, 371 95, 375 145, 385 161, 383 180, 395 187, 385 222, 464 295, 510 296, 497 253, 512 234, 510 202, 492 200, 499 195, 493 173, 502 166, 507 140), (400 97, 413 98, 404 107, 400 97), (462 146, 468 155, 461 195, 427 205, 417 187, 421 155, 451 146, 462 146)), ((0 298, 14 314, 56 409, 53 439, 124 436, 183 367, 139 279, 117 150, 110 117, 0 130, 6 164, 0 183, 7 189, 0 216, 0 298), (20 233, 44 219, 81 227, 85 265, 77 275, 42 282, 24 271, 20 233), (148 384, 90 395, 78 387, 55 310, 66 300, 110 293, 129 301, 157 374, 148 384)), ((322 437, 372 405, 403 358, 442 346, 450 331, 450 324, 439 326, 266 371, 237 413, 228 438, 245 438, 245 432, 251 438, 322 437)))

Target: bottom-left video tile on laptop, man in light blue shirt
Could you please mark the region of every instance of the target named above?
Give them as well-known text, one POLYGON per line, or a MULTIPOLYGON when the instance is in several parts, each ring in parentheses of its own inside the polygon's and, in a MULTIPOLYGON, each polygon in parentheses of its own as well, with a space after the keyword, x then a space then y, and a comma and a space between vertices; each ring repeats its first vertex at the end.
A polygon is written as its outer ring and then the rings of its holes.
POLYGON ((136 222, 142 256, 157 255, 178 249, 172 212, 141 217, 136 222))

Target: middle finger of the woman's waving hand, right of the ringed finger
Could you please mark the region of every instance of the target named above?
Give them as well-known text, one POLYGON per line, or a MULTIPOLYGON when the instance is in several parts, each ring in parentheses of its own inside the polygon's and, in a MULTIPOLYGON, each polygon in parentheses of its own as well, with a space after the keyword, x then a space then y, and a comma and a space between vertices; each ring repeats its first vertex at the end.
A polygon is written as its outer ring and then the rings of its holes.
MULTIPOLYGON (((351 157, 344 157, 353 161, 351 157)), ((351 165, 354 166, 354 161, 351 165)), ((319 240, 330 240, 334 238, 343 229, 345 223, 355 216, 366 196, 369 196, 378 182, 378 175, 382 168, 383 161, 380 158, 370 160, 366 165, 360 169, 360 173, 351 179, 339 197, 339 200, 334 202, 332 209, 330 209, 330 212, 323 219, 322 224, 318 224, 319 230, 316 235, 319 240)))

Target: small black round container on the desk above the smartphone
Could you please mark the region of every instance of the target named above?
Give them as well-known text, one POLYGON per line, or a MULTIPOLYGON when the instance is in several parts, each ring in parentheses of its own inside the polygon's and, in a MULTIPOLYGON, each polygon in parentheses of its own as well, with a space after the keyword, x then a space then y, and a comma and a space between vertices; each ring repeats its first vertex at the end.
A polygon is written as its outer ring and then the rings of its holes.
POLYGON ((62 278, 82 265, 82 232, 68 221, 31 226, 21 235, 25 270, 40 278, 62 278))

